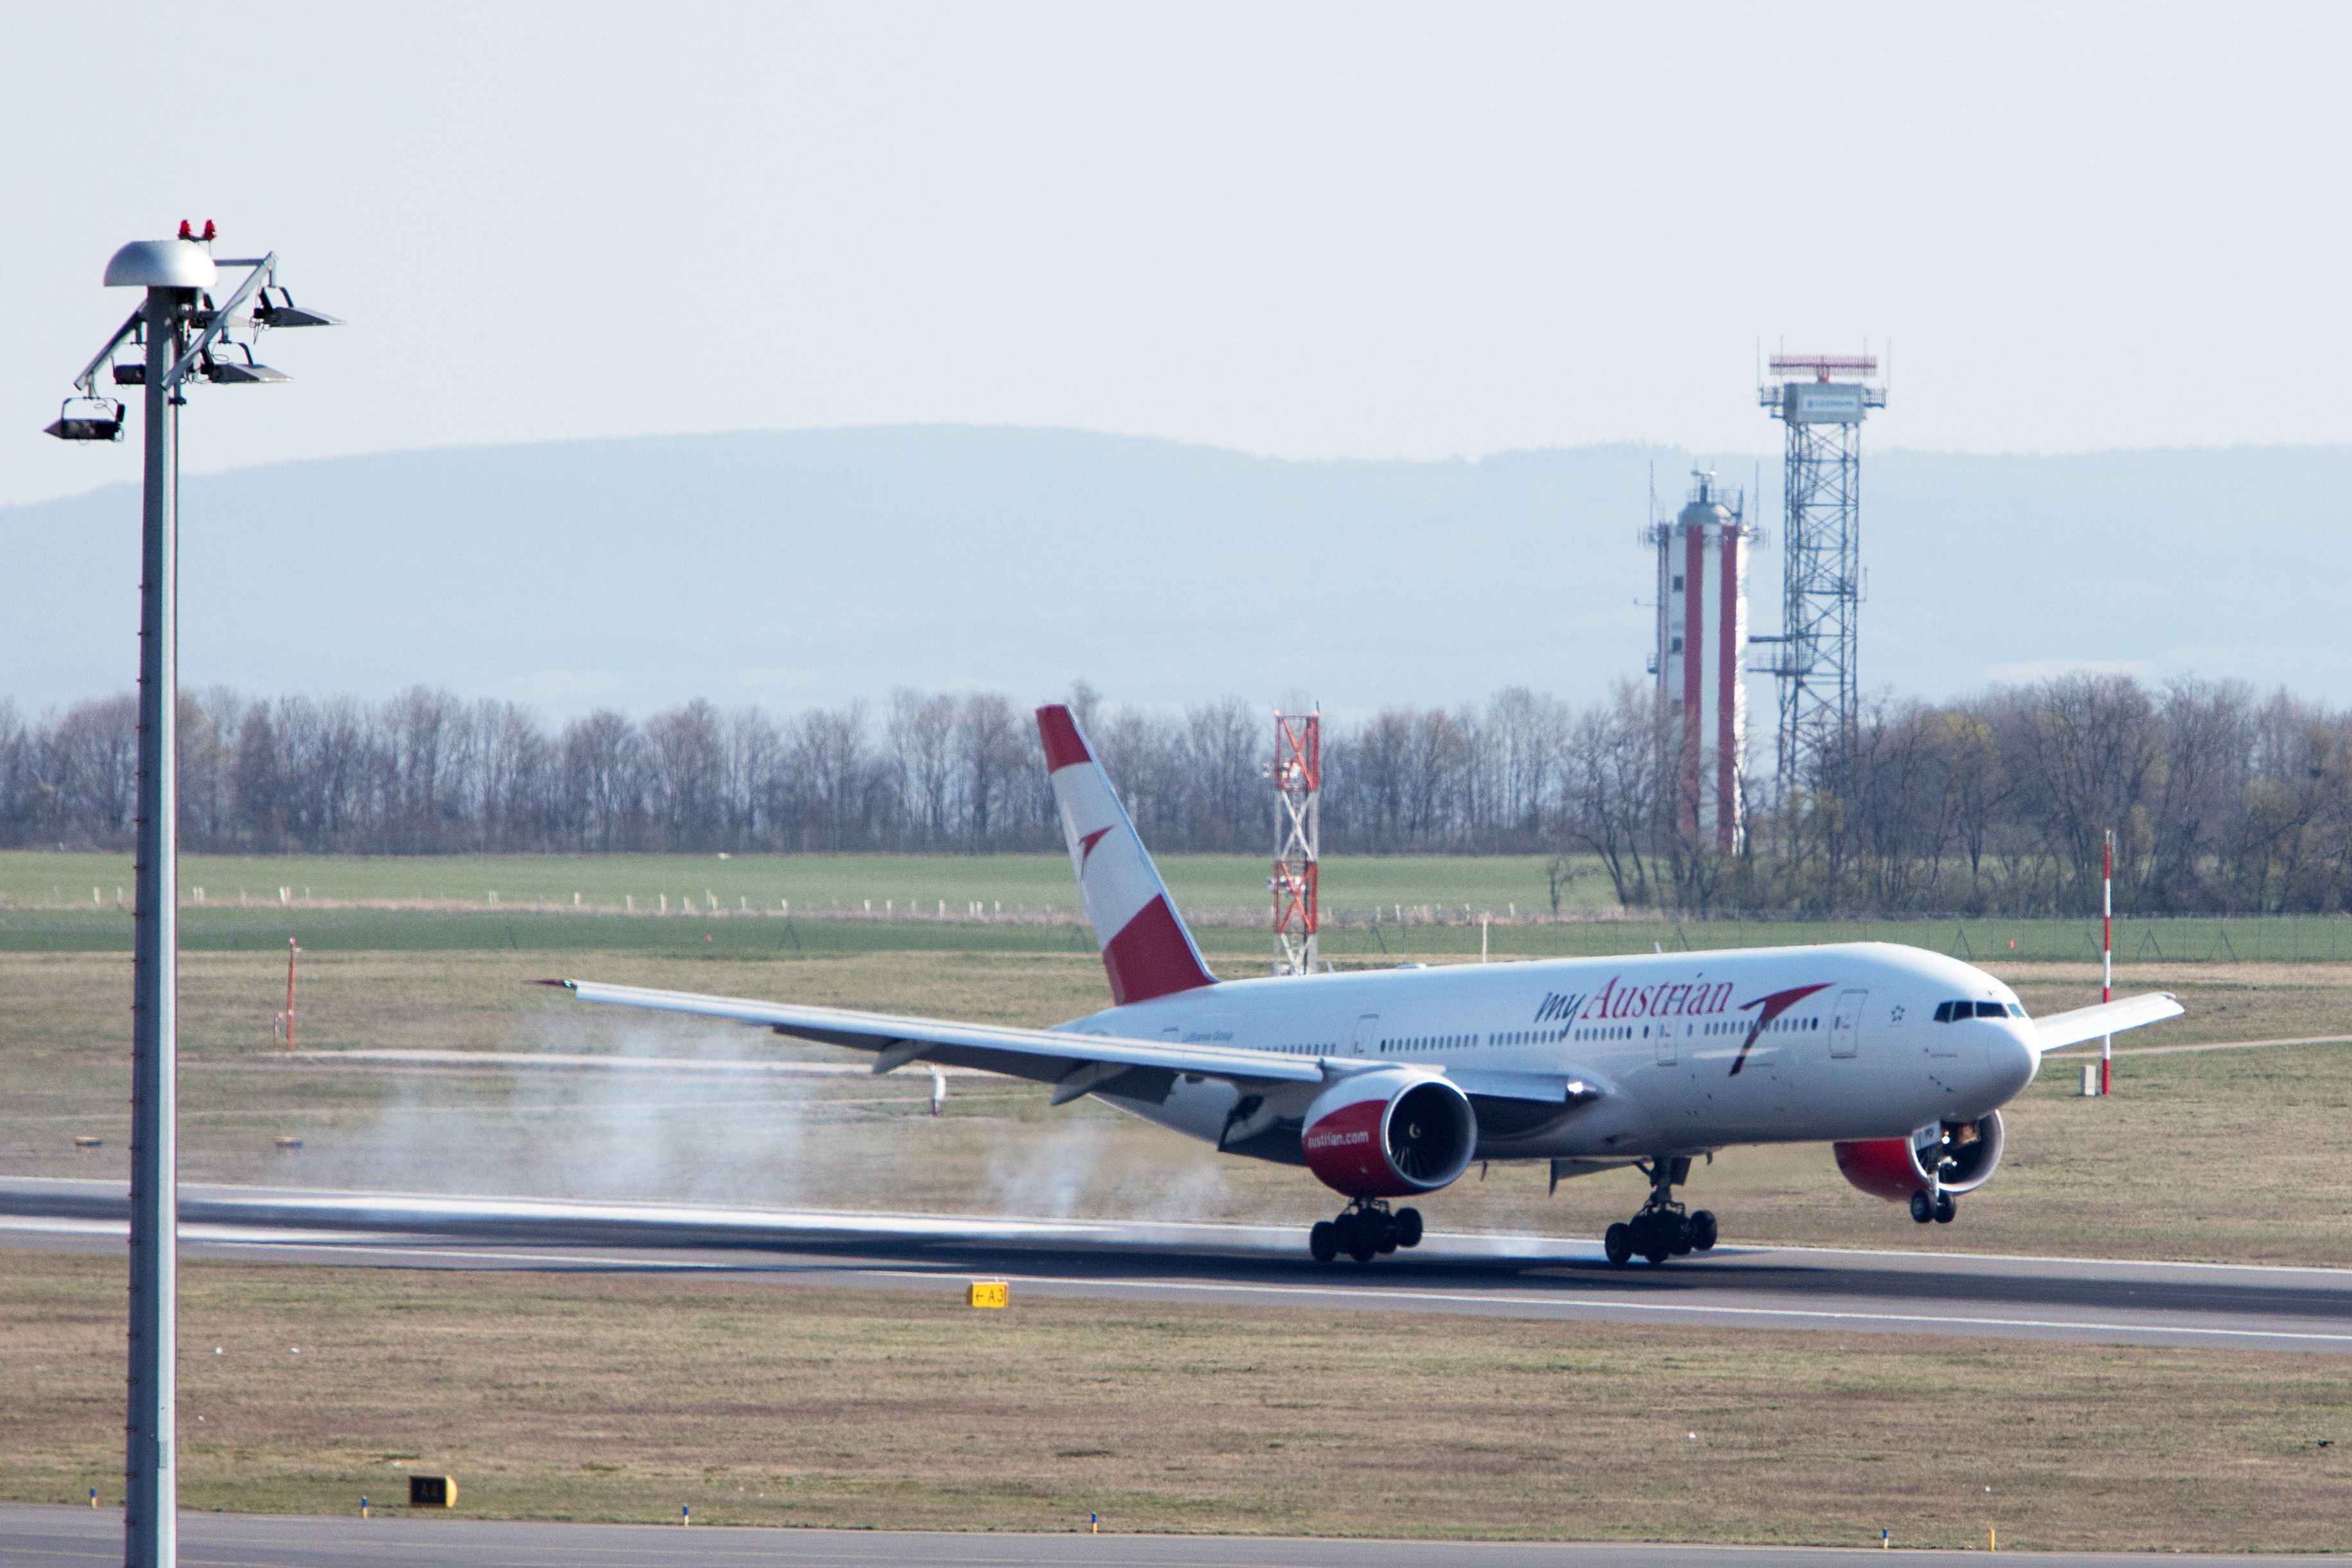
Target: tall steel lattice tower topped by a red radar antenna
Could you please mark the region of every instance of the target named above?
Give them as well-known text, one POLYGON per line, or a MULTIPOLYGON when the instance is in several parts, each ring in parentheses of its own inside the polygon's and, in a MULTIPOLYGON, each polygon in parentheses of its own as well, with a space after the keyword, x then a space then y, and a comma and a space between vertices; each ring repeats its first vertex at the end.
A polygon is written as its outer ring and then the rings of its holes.
POLYGON ((1757 402, 1785 425, 1776 785, 1837 788, 1860 717, 1863 418, 1877 355, 1773 355, 1757 402))

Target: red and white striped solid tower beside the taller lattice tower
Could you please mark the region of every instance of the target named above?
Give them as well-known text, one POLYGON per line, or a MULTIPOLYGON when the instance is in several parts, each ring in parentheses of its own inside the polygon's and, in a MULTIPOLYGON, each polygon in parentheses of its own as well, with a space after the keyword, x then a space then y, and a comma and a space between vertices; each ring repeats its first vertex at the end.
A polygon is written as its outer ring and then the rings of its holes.
POLYGON ((1748 545, 1740 494, 1691 470, 1691 498, 1675 522, 1651 524, 1658 548, 1658 708, 1675 776, 1675 825, 1712 835, 1724 853, 1745 837, 1748 780, 1748 545))

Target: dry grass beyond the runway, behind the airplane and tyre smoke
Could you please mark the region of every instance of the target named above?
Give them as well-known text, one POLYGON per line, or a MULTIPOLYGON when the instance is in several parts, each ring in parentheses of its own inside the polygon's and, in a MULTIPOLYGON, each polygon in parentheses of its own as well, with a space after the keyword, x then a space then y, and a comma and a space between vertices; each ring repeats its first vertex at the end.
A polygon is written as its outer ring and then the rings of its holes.
MULTIPOLYGON (((910 1013, 1049 1023, 1101 1006, 1087 954, 318 954, 303 966, 306 1046, 659 1048, 828 1056, 727 1025, 583 1009, 524 985, 550 964, 623 983, 795 997, 910 1013)), ((2093 966, 2006 973, 2034 1009, 2096 999, 2093 966)), ((2126 969, 2122 990, 2178 990, 2190 1016, 2129 1041, 2274 1039, 2352 1030, 2352 966, 2126 969)), ((287 1070, 268 1056, 275 954, 188 954, 181 1037, 188 1180, 421 1185, 597 1197, 710 1197, 833 1208, 1268 1218, 1334 1199, 1303 1173, 1221 1159, 1098 1105, 1044 1107, 960 1079, 946 1119, 924 1081, 663 1084, 614 1093, 506 1074, 287 1070), (308 1143, 270 1152, 278 1133, 308 1143)), ((127 1133, 129 964, 0 954, 0 1171, 118 1173, 127 1133), (73 1154, 73 1133, 108 1138, 73 1154)), ((1693 1182, 1731 1239, 1969 1246, 2352 1265, 2352 1046, 2140 1056, 2114 1100, 2082 1100, 2060 1056, 2016 1107, 2011 1157, 1957 1227, 1919 1229, 1849 1190, 1820 1147, 1731 1150, 1693 1182)), ((1423 1204, 1442 1227, 1590 1234, 1639 1201, 1639 1178, 1545 1194, 1496 1168, 1423 1204)))

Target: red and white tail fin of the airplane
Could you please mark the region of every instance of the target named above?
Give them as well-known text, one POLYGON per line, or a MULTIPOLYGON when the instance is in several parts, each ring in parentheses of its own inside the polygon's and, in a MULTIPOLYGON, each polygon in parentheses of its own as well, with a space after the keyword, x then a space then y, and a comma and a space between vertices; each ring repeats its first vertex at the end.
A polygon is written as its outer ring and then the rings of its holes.
POLYGON ((1103 950, 1112 1001, 1127 1006, 1216 985, 1143 851, 1136 825, 1127 820, 1127 806, 1087 750, 1077 719, 1061 703, 1040 708, 1037 736, 1044 741, 1044 766, 1054 773, 1054 804, 1077 872, 1077 900, 1103 950))

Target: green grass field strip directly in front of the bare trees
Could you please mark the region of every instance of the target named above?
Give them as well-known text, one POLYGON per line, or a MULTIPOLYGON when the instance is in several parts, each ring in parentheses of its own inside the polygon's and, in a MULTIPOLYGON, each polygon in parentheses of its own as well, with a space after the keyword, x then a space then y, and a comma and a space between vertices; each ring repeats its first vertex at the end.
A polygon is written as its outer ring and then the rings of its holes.
MULTIPOLYGON (((1164 856, 1160 865, 1211 959, 1256 973, 1272 940, 1268 863, 1164 856)), ((0 851, 0 952, 129 952, 129 877, 127 856, 0 851)), ((1552 919, 1538 856, 1334 858, 1322 889, 1322 952, 1336 964, 1470 957, 1482 945, 1496 957, 1599 957, 1849 940, 1999 964, 2098 959, 2096 919, 1625 914, 1592 865, 1564 898, 1566 919, 1552 919)), ((186 856, 181 896, 181 945, 193 952, 282 950, 289 936, 315 952, 1091 950, 1058 853, 186 856)), ((2352 961, 2352 919, 2119 919, 2114 950, 2124 964, 2352 961)))

